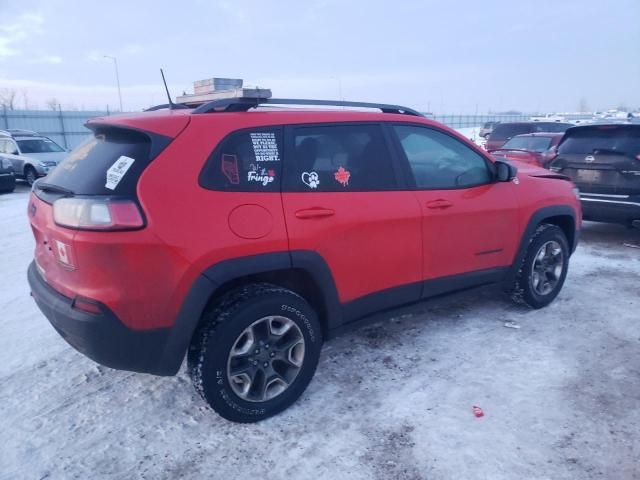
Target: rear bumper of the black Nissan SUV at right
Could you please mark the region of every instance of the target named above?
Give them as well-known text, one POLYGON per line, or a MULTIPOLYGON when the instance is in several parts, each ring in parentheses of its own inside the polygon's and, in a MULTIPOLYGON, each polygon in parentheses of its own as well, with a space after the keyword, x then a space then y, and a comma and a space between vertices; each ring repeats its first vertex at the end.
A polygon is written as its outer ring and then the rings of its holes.
POLYGON ((596 222, 630 224, 640 219, 640 195, 601 195, 581 192, 582 217, 596 222))

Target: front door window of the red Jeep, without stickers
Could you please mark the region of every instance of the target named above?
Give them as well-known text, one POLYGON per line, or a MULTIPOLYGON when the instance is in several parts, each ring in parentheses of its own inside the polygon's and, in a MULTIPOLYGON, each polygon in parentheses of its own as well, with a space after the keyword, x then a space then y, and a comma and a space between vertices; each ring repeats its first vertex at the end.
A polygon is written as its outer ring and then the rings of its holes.
POLYGON ((394 125, 413 173, 416 187, 425 190, 470 188, 490 183, 486 160, 472 149, 437 130, 394 125))

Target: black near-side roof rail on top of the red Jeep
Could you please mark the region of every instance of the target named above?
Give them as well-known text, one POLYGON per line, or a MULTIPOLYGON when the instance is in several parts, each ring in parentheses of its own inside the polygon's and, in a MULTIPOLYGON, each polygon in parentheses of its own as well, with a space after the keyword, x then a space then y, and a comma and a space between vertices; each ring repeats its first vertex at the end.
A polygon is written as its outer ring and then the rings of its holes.
POLYGON ((213 113, 213 112, 246 112, 260 105, 314 105, 332 107, 356 107, 356 108, 376 108, 383 113, 400 113, 422 117, 420 112, 400 105, 387 105, 384 103, 367 102, 347 102, 343 100, 308 100, 299 98, 229 98, 222 100, 212 100, 198 106, 193 113, 213 113))

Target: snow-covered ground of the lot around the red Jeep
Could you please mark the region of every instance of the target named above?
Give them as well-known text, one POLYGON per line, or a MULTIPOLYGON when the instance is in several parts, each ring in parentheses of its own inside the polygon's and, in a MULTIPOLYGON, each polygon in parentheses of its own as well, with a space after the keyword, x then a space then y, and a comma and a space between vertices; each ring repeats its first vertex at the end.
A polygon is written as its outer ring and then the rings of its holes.
POLYGON ((640 478, 638 231, 585 225, 541 311, 484 288, 333 340, 296 405, 237 425, 184 371, 67 346, 29 297, 27 198, 0 196, 2 479, 640 478))

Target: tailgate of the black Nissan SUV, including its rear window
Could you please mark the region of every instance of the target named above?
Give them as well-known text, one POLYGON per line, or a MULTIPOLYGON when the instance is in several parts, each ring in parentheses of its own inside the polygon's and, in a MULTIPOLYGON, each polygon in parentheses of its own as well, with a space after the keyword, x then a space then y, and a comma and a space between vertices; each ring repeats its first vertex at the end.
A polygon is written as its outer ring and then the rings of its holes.
POLYGON ((580 191, 640 194, 640 125, 573 128, 550 167, 571 177, 580 191))

